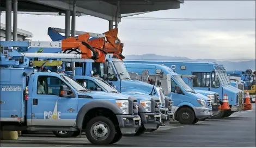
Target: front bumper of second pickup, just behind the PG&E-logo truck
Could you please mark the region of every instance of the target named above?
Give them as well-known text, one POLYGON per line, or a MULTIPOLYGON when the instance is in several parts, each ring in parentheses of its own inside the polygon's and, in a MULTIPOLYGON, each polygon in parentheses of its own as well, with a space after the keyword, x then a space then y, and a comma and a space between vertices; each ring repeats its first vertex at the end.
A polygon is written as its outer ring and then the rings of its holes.
POLYGON ((146 129, 156 129, 157 125, 161 123, 161 115, 155 113, 142 113, 141 121, 146 129))

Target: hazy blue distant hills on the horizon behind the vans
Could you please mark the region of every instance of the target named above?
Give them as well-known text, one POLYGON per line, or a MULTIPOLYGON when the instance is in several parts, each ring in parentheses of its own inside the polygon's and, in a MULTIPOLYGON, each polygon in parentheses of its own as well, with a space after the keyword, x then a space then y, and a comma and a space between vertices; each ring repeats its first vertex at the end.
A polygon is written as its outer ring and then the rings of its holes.
POLYGON ((224 65, 226 70, 255 70, 255 60, 249 61, 217 61, 211 59, 197 59, 191 60, 187 57, 181 56, 162 56, 156 54, 144 54, 144 55, 126 55, 125 60, 147 60, 147 61, 197 61, 197 62, 216 62, 224 65))

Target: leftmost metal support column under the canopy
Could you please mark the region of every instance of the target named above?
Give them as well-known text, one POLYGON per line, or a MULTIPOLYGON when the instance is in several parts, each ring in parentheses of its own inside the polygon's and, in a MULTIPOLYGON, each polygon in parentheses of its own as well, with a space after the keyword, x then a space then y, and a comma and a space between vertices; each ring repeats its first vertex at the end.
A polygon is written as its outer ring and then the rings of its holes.
POLYGON ((11 1, 5 0, 5 40, 11 41, 11 1))

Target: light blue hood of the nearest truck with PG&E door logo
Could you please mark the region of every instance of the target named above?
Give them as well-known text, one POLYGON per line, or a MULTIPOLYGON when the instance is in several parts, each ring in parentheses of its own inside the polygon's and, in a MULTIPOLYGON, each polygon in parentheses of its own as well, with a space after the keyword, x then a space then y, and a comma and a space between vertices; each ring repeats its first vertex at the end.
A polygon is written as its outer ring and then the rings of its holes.
POLYGON ((127 100, 129 95, 120 93, 108 93, 102 91, 92 91, 90 93, 79 93, 79 95, 89 95, 94 99, 114 99, 114 100, 127 100))

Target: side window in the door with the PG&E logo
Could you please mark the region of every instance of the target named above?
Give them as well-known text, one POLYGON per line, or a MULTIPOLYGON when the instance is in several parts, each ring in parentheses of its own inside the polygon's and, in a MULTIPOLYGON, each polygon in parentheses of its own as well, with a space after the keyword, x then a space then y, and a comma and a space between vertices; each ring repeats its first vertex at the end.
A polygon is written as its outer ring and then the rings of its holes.
POLYGON ((60 85, 65 83, 55 76, 39 76, 37 94, 59 95, 60 85))

